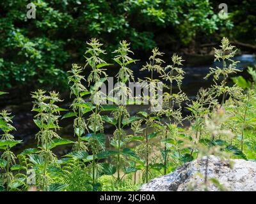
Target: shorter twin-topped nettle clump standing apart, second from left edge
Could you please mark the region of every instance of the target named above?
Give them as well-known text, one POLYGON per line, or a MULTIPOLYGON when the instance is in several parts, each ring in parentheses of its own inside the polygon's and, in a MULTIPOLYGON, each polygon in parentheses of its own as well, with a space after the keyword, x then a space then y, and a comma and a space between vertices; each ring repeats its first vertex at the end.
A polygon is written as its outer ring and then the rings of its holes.
MULTIPOLYGON (((48 191, 51 177, 49 175, 48 167, 56 161, 56 157, 51 151, 50 145, 54 138, 60 138, 56 130, 60 129, 58 120, 60 118, 60 110, 55 103, 61 101, 57 92, 49 92, 45 95, 45 91, 38 90, 32 93, 33 111, 37 112, 35 115, 35 124, 40 131, 36 134, 38 140, 40 157, 43 158, 42 168, 38 170, 38 186, 43 191, 48 191)), ((32 161, 35 158, 31 157, 32 161)))

